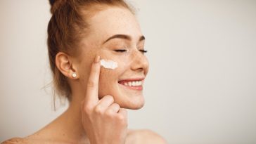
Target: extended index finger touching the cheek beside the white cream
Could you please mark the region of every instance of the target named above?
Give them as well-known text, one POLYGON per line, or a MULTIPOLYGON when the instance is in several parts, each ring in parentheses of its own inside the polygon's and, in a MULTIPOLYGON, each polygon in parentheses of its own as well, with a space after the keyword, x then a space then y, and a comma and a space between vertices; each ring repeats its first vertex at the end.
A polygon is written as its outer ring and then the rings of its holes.
POLYGON ((96 55, 94 62, 91 64, 91 72, 87 81, 87 92, 84 98, 85 103, 98 103, 98 79, 101 71, 99 60, 100 57, 96 55))

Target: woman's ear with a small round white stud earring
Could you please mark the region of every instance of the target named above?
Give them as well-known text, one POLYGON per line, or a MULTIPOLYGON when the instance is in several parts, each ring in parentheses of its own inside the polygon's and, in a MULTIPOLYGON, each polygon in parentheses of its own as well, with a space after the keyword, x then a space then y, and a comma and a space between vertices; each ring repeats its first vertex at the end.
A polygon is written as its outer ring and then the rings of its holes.
POLYGON ((63 52, 58 52, 55 58, 56 67, 58 70, 70 79, 78 79, 78 72, 76 67, 72 64, 72 58, 63 52), (76 74, 76 77, 72 77, 72 74, 76 74))

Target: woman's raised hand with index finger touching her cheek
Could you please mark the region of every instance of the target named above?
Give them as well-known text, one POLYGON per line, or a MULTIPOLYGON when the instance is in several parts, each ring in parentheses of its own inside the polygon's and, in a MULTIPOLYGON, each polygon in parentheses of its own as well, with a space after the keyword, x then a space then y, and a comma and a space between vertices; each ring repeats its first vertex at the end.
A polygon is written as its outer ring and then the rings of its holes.
POLYGON ((113 96, 98 99, 101 70, 99 56, 91 65, 87 93, 82 101, 82 124, 91 144, 124 144, 127 136, 127 110, 114 103, 113 96))

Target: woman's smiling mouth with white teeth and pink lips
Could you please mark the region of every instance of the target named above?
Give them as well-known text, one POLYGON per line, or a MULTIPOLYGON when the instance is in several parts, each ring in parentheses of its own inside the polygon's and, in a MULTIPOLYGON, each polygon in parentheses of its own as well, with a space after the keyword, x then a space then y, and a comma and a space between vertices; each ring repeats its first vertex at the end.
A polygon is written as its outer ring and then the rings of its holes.
POLYGON ((143 79, 125 79, 118 81, 118 83, 127 89, 143 90, 143 79))

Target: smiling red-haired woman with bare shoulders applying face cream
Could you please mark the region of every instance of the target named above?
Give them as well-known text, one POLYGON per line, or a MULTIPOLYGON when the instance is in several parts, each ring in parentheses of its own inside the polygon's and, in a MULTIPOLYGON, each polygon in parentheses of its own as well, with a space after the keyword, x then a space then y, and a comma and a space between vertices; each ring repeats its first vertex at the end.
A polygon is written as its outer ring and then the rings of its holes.
POLYGON ((50 3, 53 84, 70 105, 43 129, 4 143, 165 143, 152 131, 127 129, 126 109, 143 107, 148 73, 145 37, 132 8, 122 0, 50 3), (111 60, 115 67, 100 60, 111 60))

